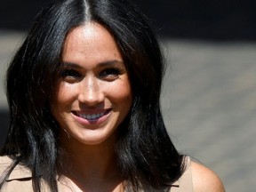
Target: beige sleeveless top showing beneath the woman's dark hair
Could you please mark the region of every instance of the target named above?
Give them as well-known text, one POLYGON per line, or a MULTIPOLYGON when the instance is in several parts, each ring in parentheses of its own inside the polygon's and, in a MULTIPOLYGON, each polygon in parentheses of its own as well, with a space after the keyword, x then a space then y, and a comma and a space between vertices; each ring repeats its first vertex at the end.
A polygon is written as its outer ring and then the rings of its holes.
MULTIPOLYGON (((192 185, 192 172, 191 172, 191 160, 190 158, 184 157, 184 161, 186 161, 186 170, 181 175, 179 180, 176 180, 172 184, 172 188, 169 192, 193 192, 192 185)), ((12 159, 7 156, 0 156, 0 179, 5 170, 12 164, 12 159)), ((1 188, 1 192, 33 192, 32 188, 32 177, 30 170, 18 164, 12 170, 8 179, 5 180, 4 187, 1 188)), ((61 191, 61 186, 59 186, 59 190, 61 191)), ((48 186, 42 183, 42 192, 50 192, 48 186)))

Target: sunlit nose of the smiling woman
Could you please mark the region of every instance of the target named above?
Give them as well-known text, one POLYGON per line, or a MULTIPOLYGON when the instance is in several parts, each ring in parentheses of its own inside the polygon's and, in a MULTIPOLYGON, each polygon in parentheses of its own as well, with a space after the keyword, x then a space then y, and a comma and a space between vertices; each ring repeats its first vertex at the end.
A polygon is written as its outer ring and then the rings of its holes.
POLYGON ((86 76, 79 87, 78 100, 88 107, 93 107, 104 100, 104 93, 99 80, 93 76, 86 76))

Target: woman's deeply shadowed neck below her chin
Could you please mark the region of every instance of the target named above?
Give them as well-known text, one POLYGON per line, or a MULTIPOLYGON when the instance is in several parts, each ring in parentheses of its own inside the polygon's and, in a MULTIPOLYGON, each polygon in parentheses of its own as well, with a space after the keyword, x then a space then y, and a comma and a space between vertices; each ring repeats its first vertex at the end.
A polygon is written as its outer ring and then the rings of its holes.
POLYGON ((60 140, 59 174, 69 180, 97 185, 108 180, 120 181, 113 143, 91 146, 72 138, 60 140))

